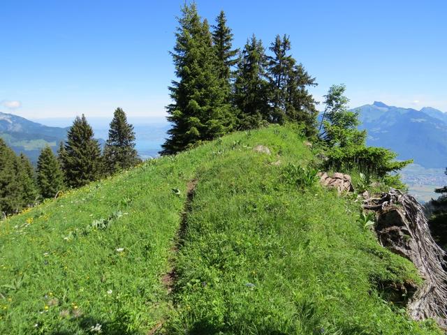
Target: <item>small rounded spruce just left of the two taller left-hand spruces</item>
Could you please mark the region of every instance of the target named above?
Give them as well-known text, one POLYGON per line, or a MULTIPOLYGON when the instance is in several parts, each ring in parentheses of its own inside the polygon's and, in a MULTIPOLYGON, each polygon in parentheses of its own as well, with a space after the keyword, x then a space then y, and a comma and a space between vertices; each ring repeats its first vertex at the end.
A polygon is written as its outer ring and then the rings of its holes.
POLYGON ((52 149, 42 149, 37 161, 37 184, 43 198, 53 198, 64 189, 64 174, 52 149))

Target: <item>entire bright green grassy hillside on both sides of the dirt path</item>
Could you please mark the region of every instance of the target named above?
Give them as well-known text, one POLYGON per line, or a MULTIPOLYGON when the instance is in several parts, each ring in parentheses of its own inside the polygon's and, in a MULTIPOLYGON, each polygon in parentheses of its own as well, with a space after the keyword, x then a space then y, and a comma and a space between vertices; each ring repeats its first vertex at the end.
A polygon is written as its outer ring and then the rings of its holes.
POLYGON ((440 334, 303 141, 235 133, 0 221, 0 334, 440 334))

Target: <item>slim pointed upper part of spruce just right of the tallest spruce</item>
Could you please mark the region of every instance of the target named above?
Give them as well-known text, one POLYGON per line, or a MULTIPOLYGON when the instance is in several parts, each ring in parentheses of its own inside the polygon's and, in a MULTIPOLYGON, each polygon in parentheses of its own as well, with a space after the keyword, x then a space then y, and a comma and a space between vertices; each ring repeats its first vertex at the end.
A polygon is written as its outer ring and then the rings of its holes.
POLYGON ((233 34, 231 29, 226 25, 226 16, 223 10, 216 18, 216 25, 213 26, 212 40, 214 43, 214 50, 217 55, 219 78, 228 83, 231 77, 231 68, 237 64, 238 49, 233 47, 233 34))

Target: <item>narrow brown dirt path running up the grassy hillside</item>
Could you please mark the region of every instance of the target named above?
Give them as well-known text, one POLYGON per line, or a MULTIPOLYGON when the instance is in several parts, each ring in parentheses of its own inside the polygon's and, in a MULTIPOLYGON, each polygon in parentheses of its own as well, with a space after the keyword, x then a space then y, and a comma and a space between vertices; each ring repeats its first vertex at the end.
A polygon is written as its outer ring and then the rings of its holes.
MULTIPOLYGON (((175 271, 175 255, 179 251, 180 248, 182 248, 184 244, 184 238, 186 235, 186 228, 188 226, 188 213, 191 211, 191 204, 193 202, 194 198, 194 192, 196 190, 196 186, 198 184, 198 179, 191 179, 188 181, 188 184, 186 184, 186 200, 184 202, 184 208, 182 211, 181 221, 179 230, 177 232, 177 237, 175 239, 175 243, 173 244, 171 251, 172 251, 172 257, 170 258, 170 269, 166 274, 164 274, 161 277, 161 283, 168 291, 168 295, 170 295, 175 286, 175 278, 177 277, 176 271, 175 271)), ((157 323, 152 329, 149 330, 147 335, 155 335, 159 330, 163 327, 163 323, 165 320, 161 320, 159 323, 157 323)))

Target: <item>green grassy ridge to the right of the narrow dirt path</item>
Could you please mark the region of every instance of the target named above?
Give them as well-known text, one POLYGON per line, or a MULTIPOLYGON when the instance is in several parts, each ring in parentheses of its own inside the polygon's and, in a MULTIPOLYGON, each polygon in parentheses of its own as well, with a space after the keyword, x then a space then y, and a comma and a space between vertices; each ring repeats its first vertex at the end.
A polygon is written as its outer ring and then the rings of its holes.
POLYGON ((312 159, 302 140, 237 138, 200 170, 167 334, 437 334, 376 289, 419 281, 411 263, 356 222, 352 200, 296 183, 291 167, 312 159))

